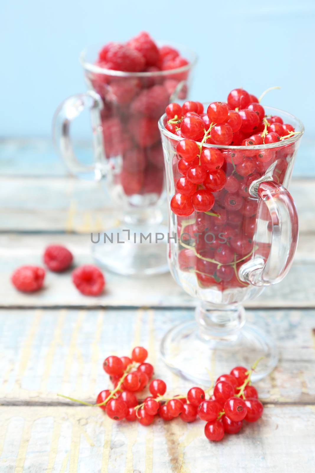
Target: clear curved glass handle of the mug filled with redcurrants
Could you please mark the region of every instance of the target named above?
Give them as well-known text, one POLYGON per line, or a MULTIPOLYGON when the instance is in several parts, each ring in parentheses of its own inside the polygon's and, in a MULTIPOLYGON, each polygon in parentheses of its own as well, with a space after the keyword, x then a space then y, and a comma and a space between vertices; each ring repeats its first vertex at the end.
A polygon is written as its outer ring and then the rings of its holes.
MULTIPOLYGON (((239 276, 254 286, 269 286, 280 282, 292 265, 298 245, 298 213, 291 194, 281 184, 263 181, 249 192, 264 201, 269 210, 272 243, 267 261, 254 252, 254 258, 240 268, 239 276)), ((262 222, 258 220, 258 226, 262 222)))

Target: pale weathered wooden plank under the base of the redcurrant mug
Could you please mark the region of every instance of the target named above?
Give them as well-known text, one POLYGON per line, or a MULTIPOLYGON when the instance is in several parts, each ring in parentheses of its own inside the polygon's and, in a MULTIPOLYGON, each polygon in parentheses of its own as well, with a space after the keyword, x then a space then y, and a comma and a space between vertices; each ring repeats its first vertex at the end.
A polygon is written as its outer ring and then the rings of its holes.
MULTIPOLYGON (((247 311, 248 323, 273 333, 280 350, 277 368, 257 383, 264 402, 315 405, 314 315, 314 310, 247 311)), ((94 403, 111 385, 103 360, 129 355, 136 345, 148 349, 155 377, 165 380, 168 393, 185 393, 191 383, 165 367, 160 342, 170 327, 192 317, 193 311, 184 309, 3 309, 0 404, 70 403, 57 393, 94 403)), ((213 377, 219 374, 214 363, 213 377)))

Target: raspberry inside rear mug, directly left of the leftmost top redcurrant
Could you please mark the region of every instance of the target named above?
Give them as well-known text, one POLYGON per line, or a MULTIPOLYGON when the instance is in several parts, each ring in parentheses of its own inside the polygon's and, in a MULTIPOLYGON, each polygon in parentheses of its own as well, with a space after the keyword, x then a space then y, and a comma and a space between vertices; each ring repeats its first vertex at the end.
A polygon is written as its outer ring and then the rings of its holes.
POLYGON ((148 117, 158 118, 169 103, 169 95, 163 86, 153 86, 143 90, 131 104, 131 113, 143 114, 148 117))

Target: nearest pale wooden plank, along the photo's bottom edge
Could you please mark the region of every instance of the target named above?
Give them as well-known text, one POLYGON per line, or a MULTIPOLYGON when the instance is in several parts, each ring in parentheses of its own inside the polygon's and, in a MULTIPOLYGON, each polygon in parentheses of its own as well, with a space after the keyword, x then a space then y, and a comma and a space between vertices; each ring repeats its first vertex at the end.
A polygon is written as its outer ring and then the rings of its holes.
POLYGON ((157 419, 143 427, 89 407, 0 407, 0 423, 3 473, 224 473, 231 464, 233 473, 314 469, 315 411, 308 405, 267 405, 261 420, 220 444, 204 437, 202 420, 157 419))

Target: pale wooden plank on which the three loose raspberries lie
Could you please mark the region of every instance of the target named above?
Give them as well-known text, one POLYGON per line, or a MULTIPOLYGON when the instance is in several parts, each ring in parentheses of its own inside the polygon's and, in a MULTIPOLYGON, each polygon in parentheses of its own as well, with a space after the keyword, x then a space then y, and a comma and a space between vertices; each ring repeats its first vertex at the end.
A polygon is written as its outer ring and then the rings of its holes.
MULTIPOLYGON (((149 278, 122 277, 105 271, 106 291, 99 297, 80 294, 71 281, 71 272, 47 272, 45 287, 34 294, 18 292, 10 274, 22 264, 42 265, 44 248, 51 243, 66 245, 75 255, 75 264, 93 263, 89 235, 0 235, 0 307, 195 307, 191 298, 170 274, 149 278), (139 287, 141 285, 141 290, 139 287), (121 287, 124 288, 122 293, 121 287), (158 289, 157 289, 158 288, 158 289)), ((301 235, 295 263, 288 276, 267 288, 247 307, 315 307, 314 237, 301 235), (303 282, 303 290, 301 283, 303 282)))

